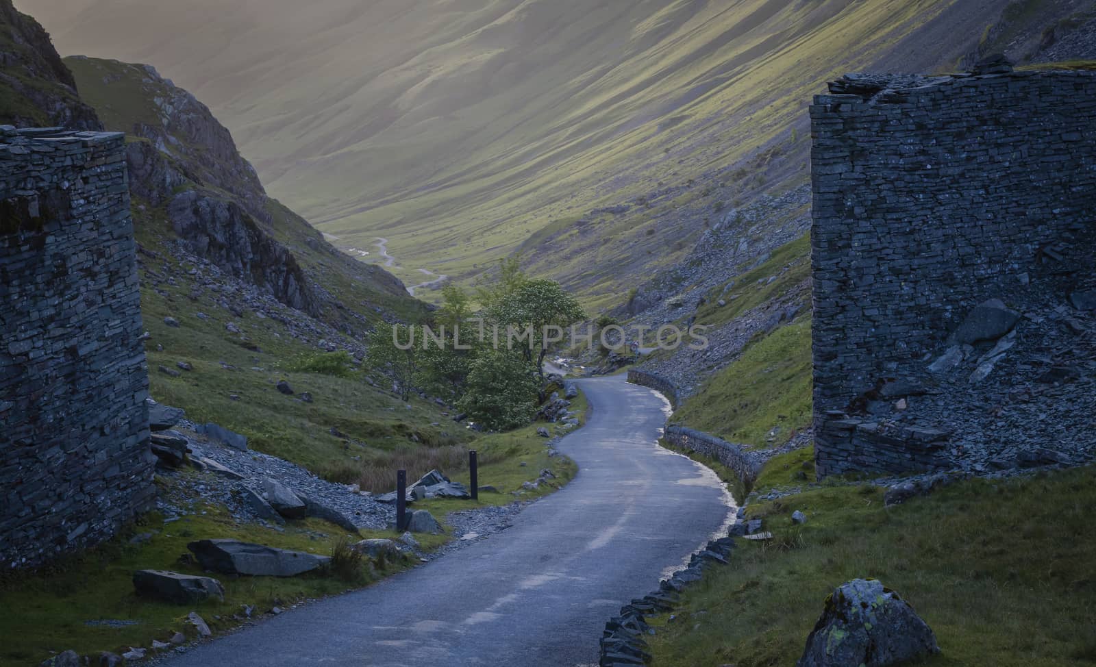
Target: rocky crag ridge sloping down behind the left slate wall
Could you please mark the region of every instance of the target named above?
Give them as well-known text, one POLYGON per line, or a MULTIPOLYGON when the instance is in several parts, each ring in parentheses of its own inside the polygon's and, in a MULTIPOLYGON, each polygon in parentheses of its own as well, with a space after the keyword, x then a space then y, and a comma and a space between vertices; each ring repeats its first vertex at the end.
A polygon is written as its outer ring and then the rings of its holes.
MULTIPOLYGON (((335 251, 271 199, 231 135, 194 95, 150 66, 79 57, 66 64, 103 124, 132 137, 135 198, 162 208, 192 252, 329 323, 357 321, 358 333, 379 319, 378 308, 401 317, 420 311, 399 280, 335 251)), ((138 209, 138 221, 145 217, 138 209)))

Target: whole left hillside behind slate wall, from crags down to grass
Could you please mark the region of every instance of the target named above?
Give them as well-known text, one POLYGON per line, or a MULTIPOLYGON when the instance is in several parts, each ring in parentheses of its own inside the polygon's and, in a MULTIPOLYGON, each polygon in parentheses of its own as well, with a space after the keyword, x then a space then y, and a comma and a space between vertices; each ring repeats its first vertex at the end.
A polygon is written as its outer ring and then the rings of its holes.
POLYGON ((425 304, 270 199, 228 130, 192 95, 146 66, 73 59, 73 77, 36 26, 0 0, 0 35, 23 39, 4 43, 19 48, 4 51, 0 80, 25 84, 4 91, 0 124, 68 120, 128 134, 153 398, 328 476, 358 474, 404 442, 468 437, 425 426, 442 424, 433 402, 400 401, 354 372, 366 331, 416 318, 425 304), (297 393, 278 391, 282 379, 297 393))

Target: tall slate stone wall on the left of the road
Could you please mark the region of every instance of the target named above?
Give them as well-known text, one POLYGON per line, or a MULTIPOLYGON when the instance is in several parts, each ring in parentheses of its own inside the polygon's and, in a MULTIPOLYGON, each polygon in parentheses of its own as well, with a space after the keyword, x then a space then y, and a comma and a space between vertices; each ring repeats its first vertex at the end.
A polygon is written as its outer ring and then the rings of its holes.
POLYGON ((0 126, 0 563, 111 537, 153 499, 122 134, 0 126))

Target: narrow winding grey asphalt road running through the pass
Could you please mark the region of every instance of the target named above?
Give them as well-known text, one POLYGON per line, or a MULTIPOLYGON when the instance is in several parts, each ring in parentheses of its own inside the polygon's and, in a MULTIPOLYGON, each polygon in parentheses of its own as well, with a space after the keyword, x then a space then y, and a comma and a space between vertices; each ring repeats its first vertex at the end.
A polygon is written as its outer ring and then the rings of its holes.
POLYGON ((559 445, 579 474, 512 528, 171 665, 596 665, 608 617, 719 530, 731 501, 711 471, 658 447, 660 395, 623 376, 579 383, 593 414, 559 445))

